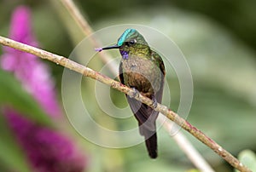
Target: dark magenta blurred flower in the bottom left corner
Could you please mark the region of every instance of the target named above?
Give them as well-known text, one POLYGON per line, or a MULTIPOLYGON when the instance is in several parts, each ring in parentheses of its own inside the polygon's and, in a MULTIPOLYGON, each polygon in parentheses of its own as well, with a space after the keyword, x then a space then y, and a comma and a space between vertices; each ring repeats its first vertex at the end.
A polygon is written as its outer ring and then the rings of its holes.
POLYGON ((22 117, 18 112, 6 109, 11 129, 38 172, 82 172, 84 157, 64 135, 22 117))

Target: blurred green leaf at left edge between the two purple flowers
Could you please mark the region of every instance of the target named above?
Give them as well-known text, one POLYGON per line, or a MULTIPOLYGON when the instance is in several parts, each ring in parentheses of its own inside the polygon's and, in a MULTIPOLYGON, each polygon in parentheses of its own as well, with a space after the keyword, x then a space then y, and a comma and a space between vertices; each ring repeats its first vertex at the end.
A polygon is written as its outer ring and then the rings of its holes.
POLYGON ((37 123, 51 125, 51 120, 9 72, 0 70, 0 104, 11 106, 37 123))

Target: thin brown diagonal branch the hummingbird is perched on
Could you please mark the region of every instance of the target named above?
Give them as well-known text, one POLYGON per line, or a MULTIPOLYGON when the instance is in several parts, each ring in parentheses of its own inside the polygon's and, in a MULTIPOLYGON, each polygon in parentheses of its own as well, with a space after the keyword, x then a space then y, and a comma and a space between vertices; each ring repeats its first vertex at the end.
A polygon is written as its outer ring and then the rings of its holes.
MULTIPOLYGON (((79 72, 83 74, 85 77, 90 77, 93 79, 96 79, 97 81, 100 81, 102 83, 108 84, 113 89, 117 89, 126 95, 137 95, 135 99, 143 102, 144 104, 153 107, 153 101, 148 99, 147 97, 144 97, 143 95, 137 94, 137 92, 133 89, 130 89, 123 85, 122 83, 119 83, 117 81, 114 81, 112 78, 102 75, 99 72, 96 72, 89 67, 82 66, 79 63, 74 62, 73 60, 68 60, 67 58, 49 53, 48 51, 45 51, 43 49, 38 49, 29 45, 26 45, 24 43, 19 43, 14 40, 11 40, 6 37, 0 37, 0 44, 3 44, 5 46, 19 49, 21 51, 35 54, 38 57, 41 57, 42 59, 50 60, 52 62, 55 62, 57 65, 61 65, 64 67, 67 67, 70 70, 73 70, 75 72, 79 72)), ((155 111, 161 112, 164 114, 167 118, 171 119, 173 122, 177 123, 177 125, 181 126, 183 129, 187 130, 191 135, 194 135, 197 140, 201 140, 202 143, 210 147, 214 152, 218 153, 218 155, 224 160, 226 160, 228 163, 230 163, 234 168, 242 171, 242 172, 249 172, 250 169, 247 169, 246 166, 244 166, 238 159, 236 159, 234 156, 230 154, 230 152, 227 152, 219 146, 214 140, 210 139, 201 132, 201 130, 195 128, 192 124, 190 124, 185 119, 179 117, 176 112, 172 112, 171 109, 169 109, 167 106, 157 104, 156 108, 154 108, 155 111)))

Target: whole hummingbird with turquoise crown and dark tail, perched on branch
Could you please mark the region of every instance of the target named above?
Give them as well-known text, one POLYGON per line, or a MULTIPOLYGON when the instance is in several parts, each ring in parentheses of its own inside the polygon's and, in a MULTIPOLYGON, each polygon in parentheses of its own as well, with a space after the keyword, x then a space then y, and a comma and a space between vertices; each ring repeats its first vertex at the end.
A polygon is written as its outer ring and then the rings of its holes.
MULTIPOLYGON (((161 103, 166 75, 165 65, 160 55, 150 49, 143 35, 135 29, 126 29, 115 45, 96 50, 100 52, 106 49, 119 49, 122 55, 119 64, 121 83, 153 100, 154 107, 161 103)), ((155 120, 159 112, 136 100, 135 96, 126 95, 126 98, 137 119, 139 133, 144 136, 149 157, 157 158, 155 120)))

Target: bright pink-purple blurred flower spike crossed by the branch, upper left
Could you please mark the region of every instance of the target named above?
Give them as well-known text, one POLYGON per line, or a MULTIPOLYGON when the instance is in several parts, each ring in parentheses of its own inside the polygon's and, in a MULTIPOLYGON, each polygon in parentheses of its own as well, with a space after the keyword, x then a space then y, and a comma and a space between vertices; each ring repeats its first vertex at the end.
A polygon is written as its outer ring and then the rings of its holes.
MULTIPOLYGON (((10 27, 10 38, 21 43, 37 46, 31 31, 31 14, 26 7, 15 9, 10 27)), ((4 48, 1 66, 4 70, 14 72, 24 88, 31 93, 38 103, 51 116, 60 116, 54 83, 49 76, 49 69, 33 54, 16 49, 4 48)))

